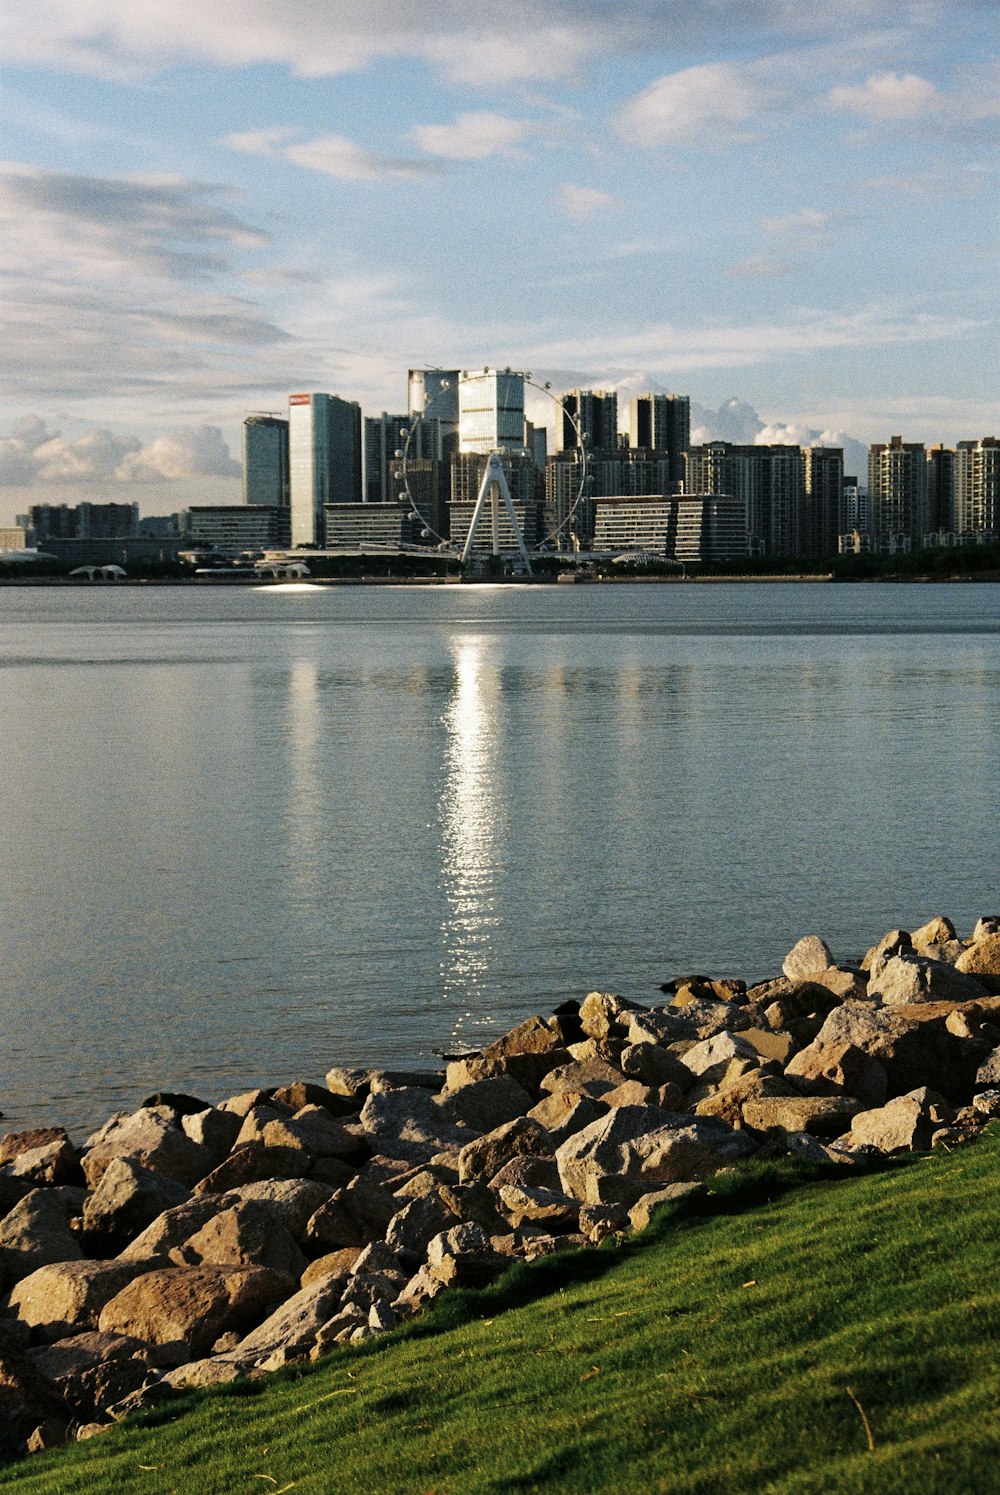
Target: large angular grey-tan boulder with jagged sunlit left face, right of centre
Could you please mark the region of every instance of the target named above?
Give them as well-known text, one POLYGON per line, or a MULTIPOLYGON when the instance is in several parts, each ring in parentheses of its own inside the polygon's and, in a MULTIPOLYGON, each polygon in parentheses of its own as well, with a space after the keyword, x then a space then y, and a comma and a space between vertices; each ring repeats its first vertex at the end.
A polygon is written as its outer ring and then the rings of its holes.
POLYGON ((556 1151, 564 1192, 589 1205, 622 1203, 661 1184, 686 1183, 753 1151, 744 1132, 656 1106, 619 1106, 556 1151))

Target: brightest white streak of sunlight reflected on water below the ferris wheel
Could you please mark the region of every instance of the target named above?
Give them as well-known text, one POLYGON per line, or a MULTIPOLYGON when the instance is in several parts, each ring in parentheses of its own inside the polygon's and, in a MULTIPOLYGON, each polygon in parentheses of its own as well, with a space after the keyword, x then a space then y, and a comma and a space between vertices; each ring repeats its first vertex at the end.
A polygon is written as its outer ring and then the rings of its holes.
POLYGON ((471 1029, 489 1026, 481 999, 496 961, 499 925, 496 840, 502 833, 496 791, 499 688, 481 638, 451 643, 454 676, 444 713, 441 867, 447 916, 441 981, 445 1006, 457 1012, 454 1048, 474 1046, 471 1029))

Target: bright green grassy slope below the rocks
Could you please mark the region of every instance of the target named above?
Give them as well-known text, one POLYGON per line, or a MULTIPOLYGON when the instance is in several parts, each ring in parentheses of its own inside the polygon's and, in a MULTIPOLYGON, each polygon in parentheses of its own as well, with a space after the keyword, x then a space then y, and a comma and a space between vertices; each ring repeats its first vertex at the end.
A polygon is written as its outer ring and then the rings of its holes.
MULTIPOLYGON (((25 1492, 1000 1488, 1000 1127, 445 1295, 401 1337, 0 1473, 25 1492), (868 1449, 867 1417, 874 1449, 868 1449)), ((704 1205, 701 1206, 704 1211, 704 1205)))

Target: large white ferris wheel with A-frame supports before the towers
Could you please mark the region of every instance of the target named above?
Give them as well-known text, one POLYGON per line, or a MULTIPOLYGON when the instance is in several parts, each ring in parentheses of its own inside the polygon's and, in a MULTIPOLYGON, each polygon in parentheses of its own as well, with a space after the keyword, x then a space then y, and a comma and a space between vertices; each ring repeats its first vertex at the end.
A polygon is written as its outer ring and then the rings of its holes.
MULTIPOLYGON (((441 374, 441 369, 428 369, 426 372, 441 374)), ((555 523, 543 532, 543 535, 535 541, 534 553, 552 552, 565 549, 571 544, 575 537, 574 519, 580 510, 580 504, 586 496, 587 490, 587 440, 580 426, 578 416, 568 411, 564 402, 552 393, 550 383, 538 383, 531 377, 531 374, 520 374, 511 369, 492 369, 484 368, 475 374, 462 372, 459 381, 465 390, 472 387, 475 395, 475 384, 481 381, 484 386, 483 393, 486 393, 486 384, 490 380, 498 380, 501 375, 508 375, 519 378, 525 389, 534 389, 540 395, 547 396, 558 411, 558 419, 562 422, 564 429, 564 446, 562 451, 568 453, 564 457, 567 466, 565 478, 556 471, 555 474, 555 523), (572 443, 565 443, 567 431, 572 434, 572 443)), ((438 528, 430 522, 426 493, 422 495, 423 502, 417 498, 414 489, 419 486, 416 483, 417 468, 416 463, 422 460, 422 453, 425 451, 428 443, 423 440, 423 434, 429 429, 429 422, 441 419, 441 414, 435 416, 435 407, 441 413, 445 404, 451 408, 456 407, 457 390, 453 389, 451 381, 441 378, 438 392, 426 401, 423 410, 416 411, 401 435, 405 434, 405 444, 396 450, 395 459, 396 466, 393 469, 393 477, 401 484, 399 502, 408 510, 410 519, 419 520, 422 523, 422 538, 428 541, 436 541, 436 547, 442 553, 459 555, 457 546, 450 537, 439 532, 438 528)), ((522 408, 522 429, 511 438, 507 432, 501 437, 499 420, 495 422, 490 441, 489 438, 478 438, 471 451, 462 454, 474 454, 484 459, 481 481, 478 486, 478 493, 472 505, 472 514, 469 520, 469 528, 465 535, 465 541, 460 552, 462 565, 466 565, 472 553, 475 537, 478 528, 484 517, 489 514, 490 522, 490 549, 495 556, 504 553, 502 540, 507 538, 501 531, 501 513, 505 514, 510 531, 513 531, 514 546, 520 552, 520 556, 531 574, 531 553, 525 543, 525 535, 517 519, 517 511, 514 507, 514 499, 511 498, 510 483, 507 469, 504 465, 504 457, 531 457, 525 447, 525 431, 523 431, 523 408, 522 408), (502 444, 501 444, 502 441, 502 444)), ((441 444, 439 444, 439 428, 438 428, 438 443, 436 443, 438 460, 442 459, 441 444)), ((425 475, 425 474, 422 474, 425 475)), ((510 549, 510 544, 507 546, 510 549)))

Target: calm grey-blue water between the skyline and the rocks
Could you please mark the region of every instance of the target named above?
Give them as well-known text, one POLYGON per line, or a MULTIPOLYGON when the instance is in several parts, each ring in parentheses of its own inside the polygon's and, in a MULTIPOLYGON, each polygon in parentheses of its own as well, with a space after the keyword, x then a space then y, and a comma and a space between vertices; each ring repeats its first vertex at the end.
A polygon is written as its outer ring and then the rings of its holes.
POLYGON ((1000 588, 0 589, 3 1129, 1000 909, 1000 588))

